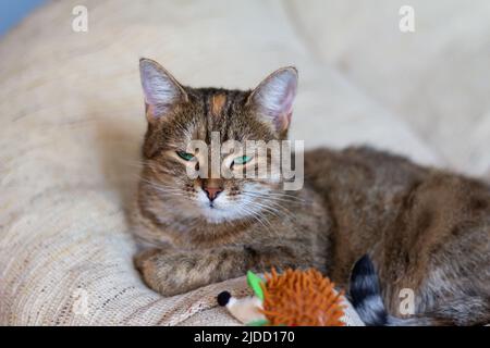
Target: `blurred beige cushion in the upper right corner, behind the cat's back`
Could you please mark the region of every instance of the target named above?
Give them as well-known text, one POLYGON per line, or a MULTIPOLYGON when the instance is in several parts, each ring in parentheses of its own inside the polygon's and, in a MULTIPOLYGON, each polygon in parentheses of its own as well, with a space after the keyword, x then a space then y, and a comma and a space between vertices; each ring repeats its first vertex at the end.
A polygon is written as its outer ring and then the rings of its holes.
POLYGON ((490 177, 490 1, 289 1, 314 57, 402 117, 454 170, 490 177), (399 29, 402 5, 415 32, 399 29))

